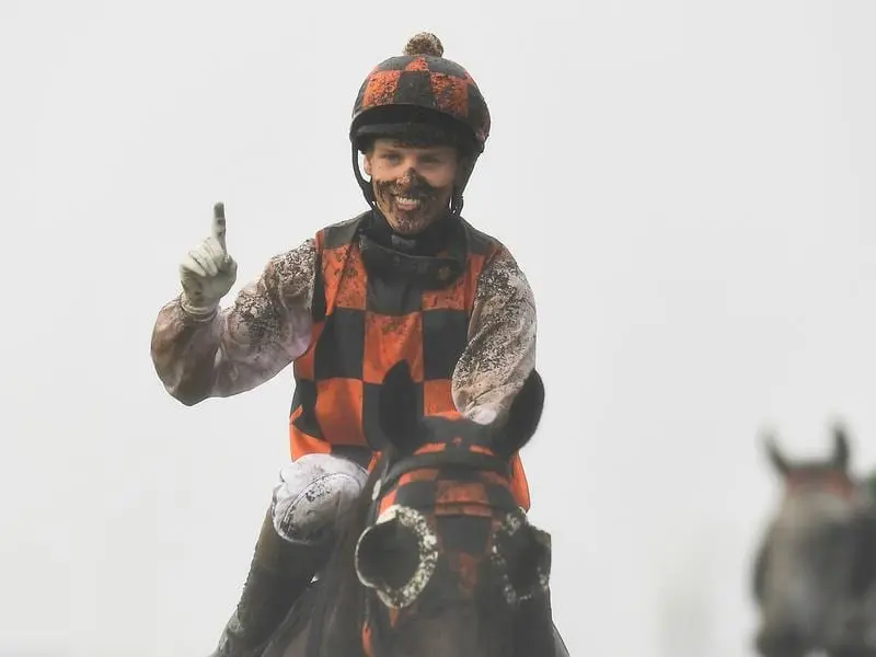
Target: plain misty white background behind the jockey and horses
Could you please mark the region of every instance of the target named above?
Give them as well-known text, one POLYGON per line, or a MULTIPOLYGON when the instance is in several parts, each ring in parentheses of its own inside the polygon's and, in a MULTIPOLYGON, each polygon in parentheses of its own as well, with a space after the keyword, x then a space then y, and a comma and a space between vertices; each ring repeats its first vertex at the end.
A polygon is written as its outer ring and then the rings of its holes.
POLYGON ((751 655, 758 431, 826 453, 842 417, 876 465, 876 4, 0 4, 0 653, 212 649, 291 370, 187 408, 152 323, 215 201, 234 292, 364 208, 356 92, 431 30, 493 113, 464 215, 537 296, 572 655, 751 655))

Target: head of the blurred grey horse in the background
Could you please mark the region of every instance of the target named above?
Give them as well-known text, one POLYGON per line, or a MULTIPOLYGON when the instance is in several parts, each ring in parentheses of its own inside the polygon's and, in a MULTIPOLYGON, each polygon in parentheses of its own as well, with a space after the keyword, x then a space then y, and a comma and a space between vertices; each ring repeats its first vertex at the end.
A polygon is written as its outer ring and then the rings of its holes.
POLYGON ((849 472, 846 433, 833 427, 832 453, 792 461, 773 436, 765 451, 783 485, 754 564, 761 610, 756 644, 764 657, 802 657, 825 648, 849 592, 860 503, 849 472))

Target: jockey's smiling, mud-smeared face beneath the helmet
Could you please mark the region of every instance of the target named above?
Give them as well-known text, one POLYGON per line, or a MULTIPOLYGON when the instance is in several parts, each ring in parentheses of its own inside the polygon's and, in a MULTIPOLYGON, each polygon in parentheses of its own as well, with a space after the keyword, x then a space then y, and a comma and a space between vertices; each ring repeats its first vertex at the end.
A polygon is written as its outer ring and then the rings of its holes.
POLYGON ((447 214, 459 171, 451 146, 412 147, 380 138, 365 155, 378 207, 404 235, 422 232, 447 214))

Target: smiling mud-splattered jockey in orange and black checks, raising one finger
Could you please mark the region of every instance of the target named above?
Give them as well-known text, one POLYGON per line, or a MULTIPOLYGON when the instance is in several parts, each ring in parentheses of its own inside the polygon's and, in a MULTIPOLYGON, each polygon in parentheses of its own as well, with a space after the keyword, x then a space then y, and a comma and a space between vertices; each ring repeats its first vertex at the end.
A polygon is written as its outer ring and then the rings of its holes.
MULTIPOLYGON (((489 112, 442 55, 435 35, 418 34, 359 89, 349 137, 366 211, 274 256, 220 308, 237 264, 217 204, 212 234, 180 265, 182 292, 158 314, 155 370, 185 405, 293 365, 291 461, 215 657, 256 654, 324 563, 335 520, 384 445, 374 402, 390 367, 408 361, 424 413, 484 424, 504 417, 534 367, 529 283, 507 247, 460 215, 489 112)), ((528 510, 519 456, 511 477, 528 510)))

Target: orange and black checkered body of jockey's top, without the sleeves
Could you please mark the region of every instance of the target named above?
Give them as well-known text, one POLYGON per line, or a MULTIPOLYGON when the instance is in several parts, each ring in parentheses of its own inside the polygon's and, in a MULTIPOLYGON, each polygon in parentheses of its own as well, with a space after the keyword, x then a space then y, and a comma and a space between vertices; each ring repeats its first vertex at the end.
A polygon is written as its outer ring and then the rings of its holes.
MULTIPOLYGON (((468 345, 477 279, 502 246, 459 219, 464 270, 446 288, 424 289, 369 274, 358 241, 366 216, 316 233, 312 339, 293 365, 289 441, 292 459, 338 453, 370 470, 387 445, 378 400, 393 365, 407 361, 423 415, 456 412, 451 380, 468 345)), ((519 456, 510 468, 518 504, 529 509, 519 456)))

